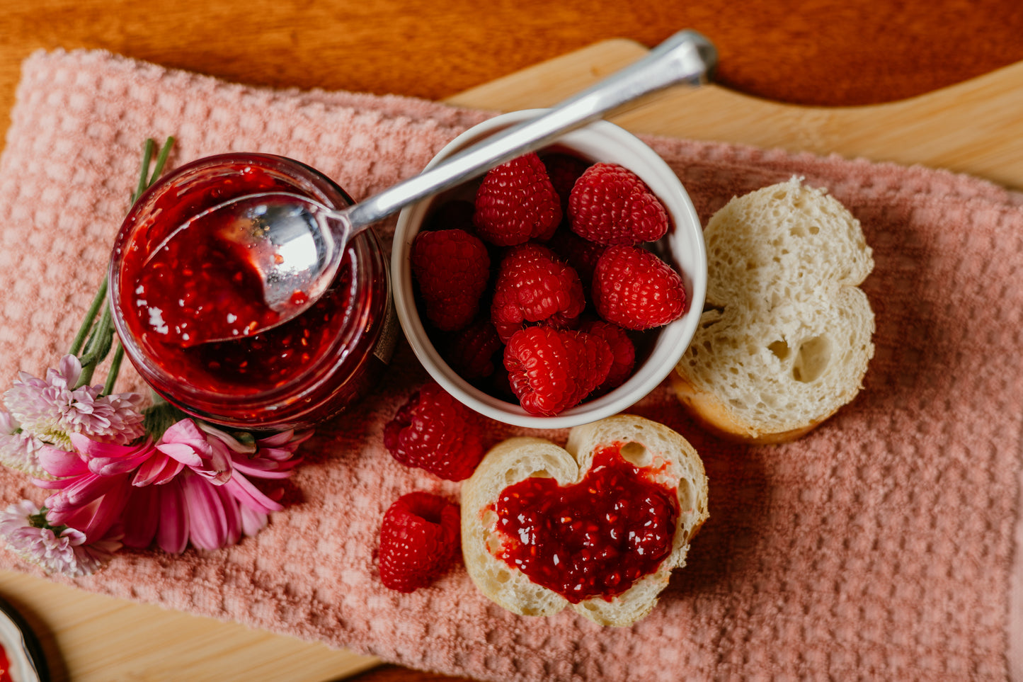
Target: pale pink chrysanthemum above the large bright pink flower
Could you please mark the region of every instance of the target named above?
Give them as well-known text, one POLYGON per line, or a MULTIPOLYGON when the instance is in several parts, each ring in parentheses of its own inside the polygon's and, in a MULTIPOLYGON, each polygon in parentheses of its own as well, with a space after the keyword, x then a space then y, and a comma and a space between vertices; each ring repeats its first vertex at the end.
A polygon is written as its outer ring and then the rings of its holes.
POLYGON ((70 449, 72 433, 126 444, 140 437, 142 396, 137 393, 100 395, 101 386, 77 386, 82 364, 75 355, 60 358, 57 370, 39 379, 20 372, 4 393, 4 403, 23 432, 70 449))

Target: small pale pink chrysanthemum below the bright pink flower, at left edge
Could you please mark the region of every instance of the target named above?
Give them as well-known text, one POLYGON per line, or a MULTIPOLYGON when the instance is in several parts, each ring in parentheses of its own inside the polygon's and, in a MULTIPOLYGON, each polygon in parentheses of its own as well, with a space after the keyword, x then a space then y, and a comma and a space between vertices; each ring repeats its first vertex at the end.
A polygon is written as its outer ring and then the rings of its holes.
POLYGON ((28 500, 0 512, 0 537, 25 560, 72 578, 95 572, 121 549, 116 534, 89 543, 80 530, 49 525, 42 510, 28 500))

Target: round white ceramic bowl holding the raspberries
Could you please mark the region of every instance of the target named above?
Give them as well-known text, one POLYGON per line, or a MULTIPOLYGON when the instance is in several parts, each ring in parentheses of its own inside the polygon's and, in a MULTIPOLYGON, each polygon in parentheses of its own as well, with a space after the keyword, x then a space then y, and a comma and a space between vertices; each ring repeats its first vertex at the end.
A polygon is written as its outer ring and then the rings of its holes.
MULTIPOLYGON (((511 112, 474 126, 441 150, 428 168, 494 132, 542 113, 542 110, 511 112)), ((391 276, 398 319, 412 351, 427 372, 455 398, 480 414, 506 424, 530 428, 564 428, 588 424, 618 414, 650 393, 674 369, 693 340, 707 291, 707 252, 700 219, 677 176, 653 150, 631 133, 606 121, 597 121, 568 133, 558 141, 557 146, 574 152, 593 163, 616 163, 628 168, 642 178, 664 203, 671 217, 672 229, 658 243, 650 245, 650 248, 674 265, 682 275, 687 309, 675 322, 647 332, 655 335, 650 353, 641 364, 637 364, 628 381, 615 390, 596 399, 583 401, 554 417, 540 417, 527 413, 517 403, 488 395, 448 367, 434 348, 419 319, 413 297, 409 258, 412 241, 434 202, 440 198, 424 200, 401 212, 391 254, 391 276)), ((450 198, 450 194, 447 197, 450 198)))

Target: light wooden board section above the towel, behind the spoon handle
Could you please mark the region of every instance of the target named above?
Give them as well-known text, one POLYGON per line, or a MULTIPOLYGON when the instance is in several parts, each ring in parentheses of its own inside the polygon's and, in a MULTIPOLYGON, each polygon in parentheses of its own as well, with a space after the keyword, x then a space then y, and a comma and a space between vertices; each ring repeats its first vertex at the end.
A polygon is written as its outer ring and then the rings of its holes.
MULTIPOLYGON (((629 40, 605 41, 571 59, 603 75, 647 53, 629 40)), ((565 62, 568 63, 568 62, 565 62)), ((474 88, 448 101, 502 110, 558 101, 562 75, 549 65, 474 88)), ((582 74, 570 81, 582 85, 582 74)), ((909 99, 866 106, 779 104, 717 85, 673 88, 612 120, 636 133, 721 140, 790 152, 922 164, 1023 188, 1023 62, 909 99)))

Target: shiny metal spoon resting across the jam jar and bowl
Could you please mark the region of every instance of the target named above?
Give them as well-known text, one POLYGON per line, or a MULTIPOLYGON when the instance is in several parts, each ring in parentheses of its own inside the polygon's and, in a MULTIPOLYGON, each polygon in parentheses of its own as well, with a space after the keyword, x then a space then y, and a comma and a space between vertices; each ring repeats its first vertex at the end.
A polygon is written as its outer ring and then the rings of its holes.
MULTIPOLYGON (((259 333, 296 317, 315 303, 337 274, 348 241, 370 224, 549 144, 564 133, 642 95, 682 82, 706 82, 716 61, 717 51, 710 41, 694 31, 682 31, 639 61, 538 118, 492 135, 363 202, 336 210, 300 195, 246 195, 189 218, 161 246, 174 239, 186 239, 183 233, 197 221, 211 219, 219 225, 232 225, 232 241, 242 242, 248 249, 252 264, 263 279, 265 302, 279 315, 273 323, 252 331, 259 333)), ((193 339, 192 343, 224 338, 210 329, 209 338, 193 339)))

